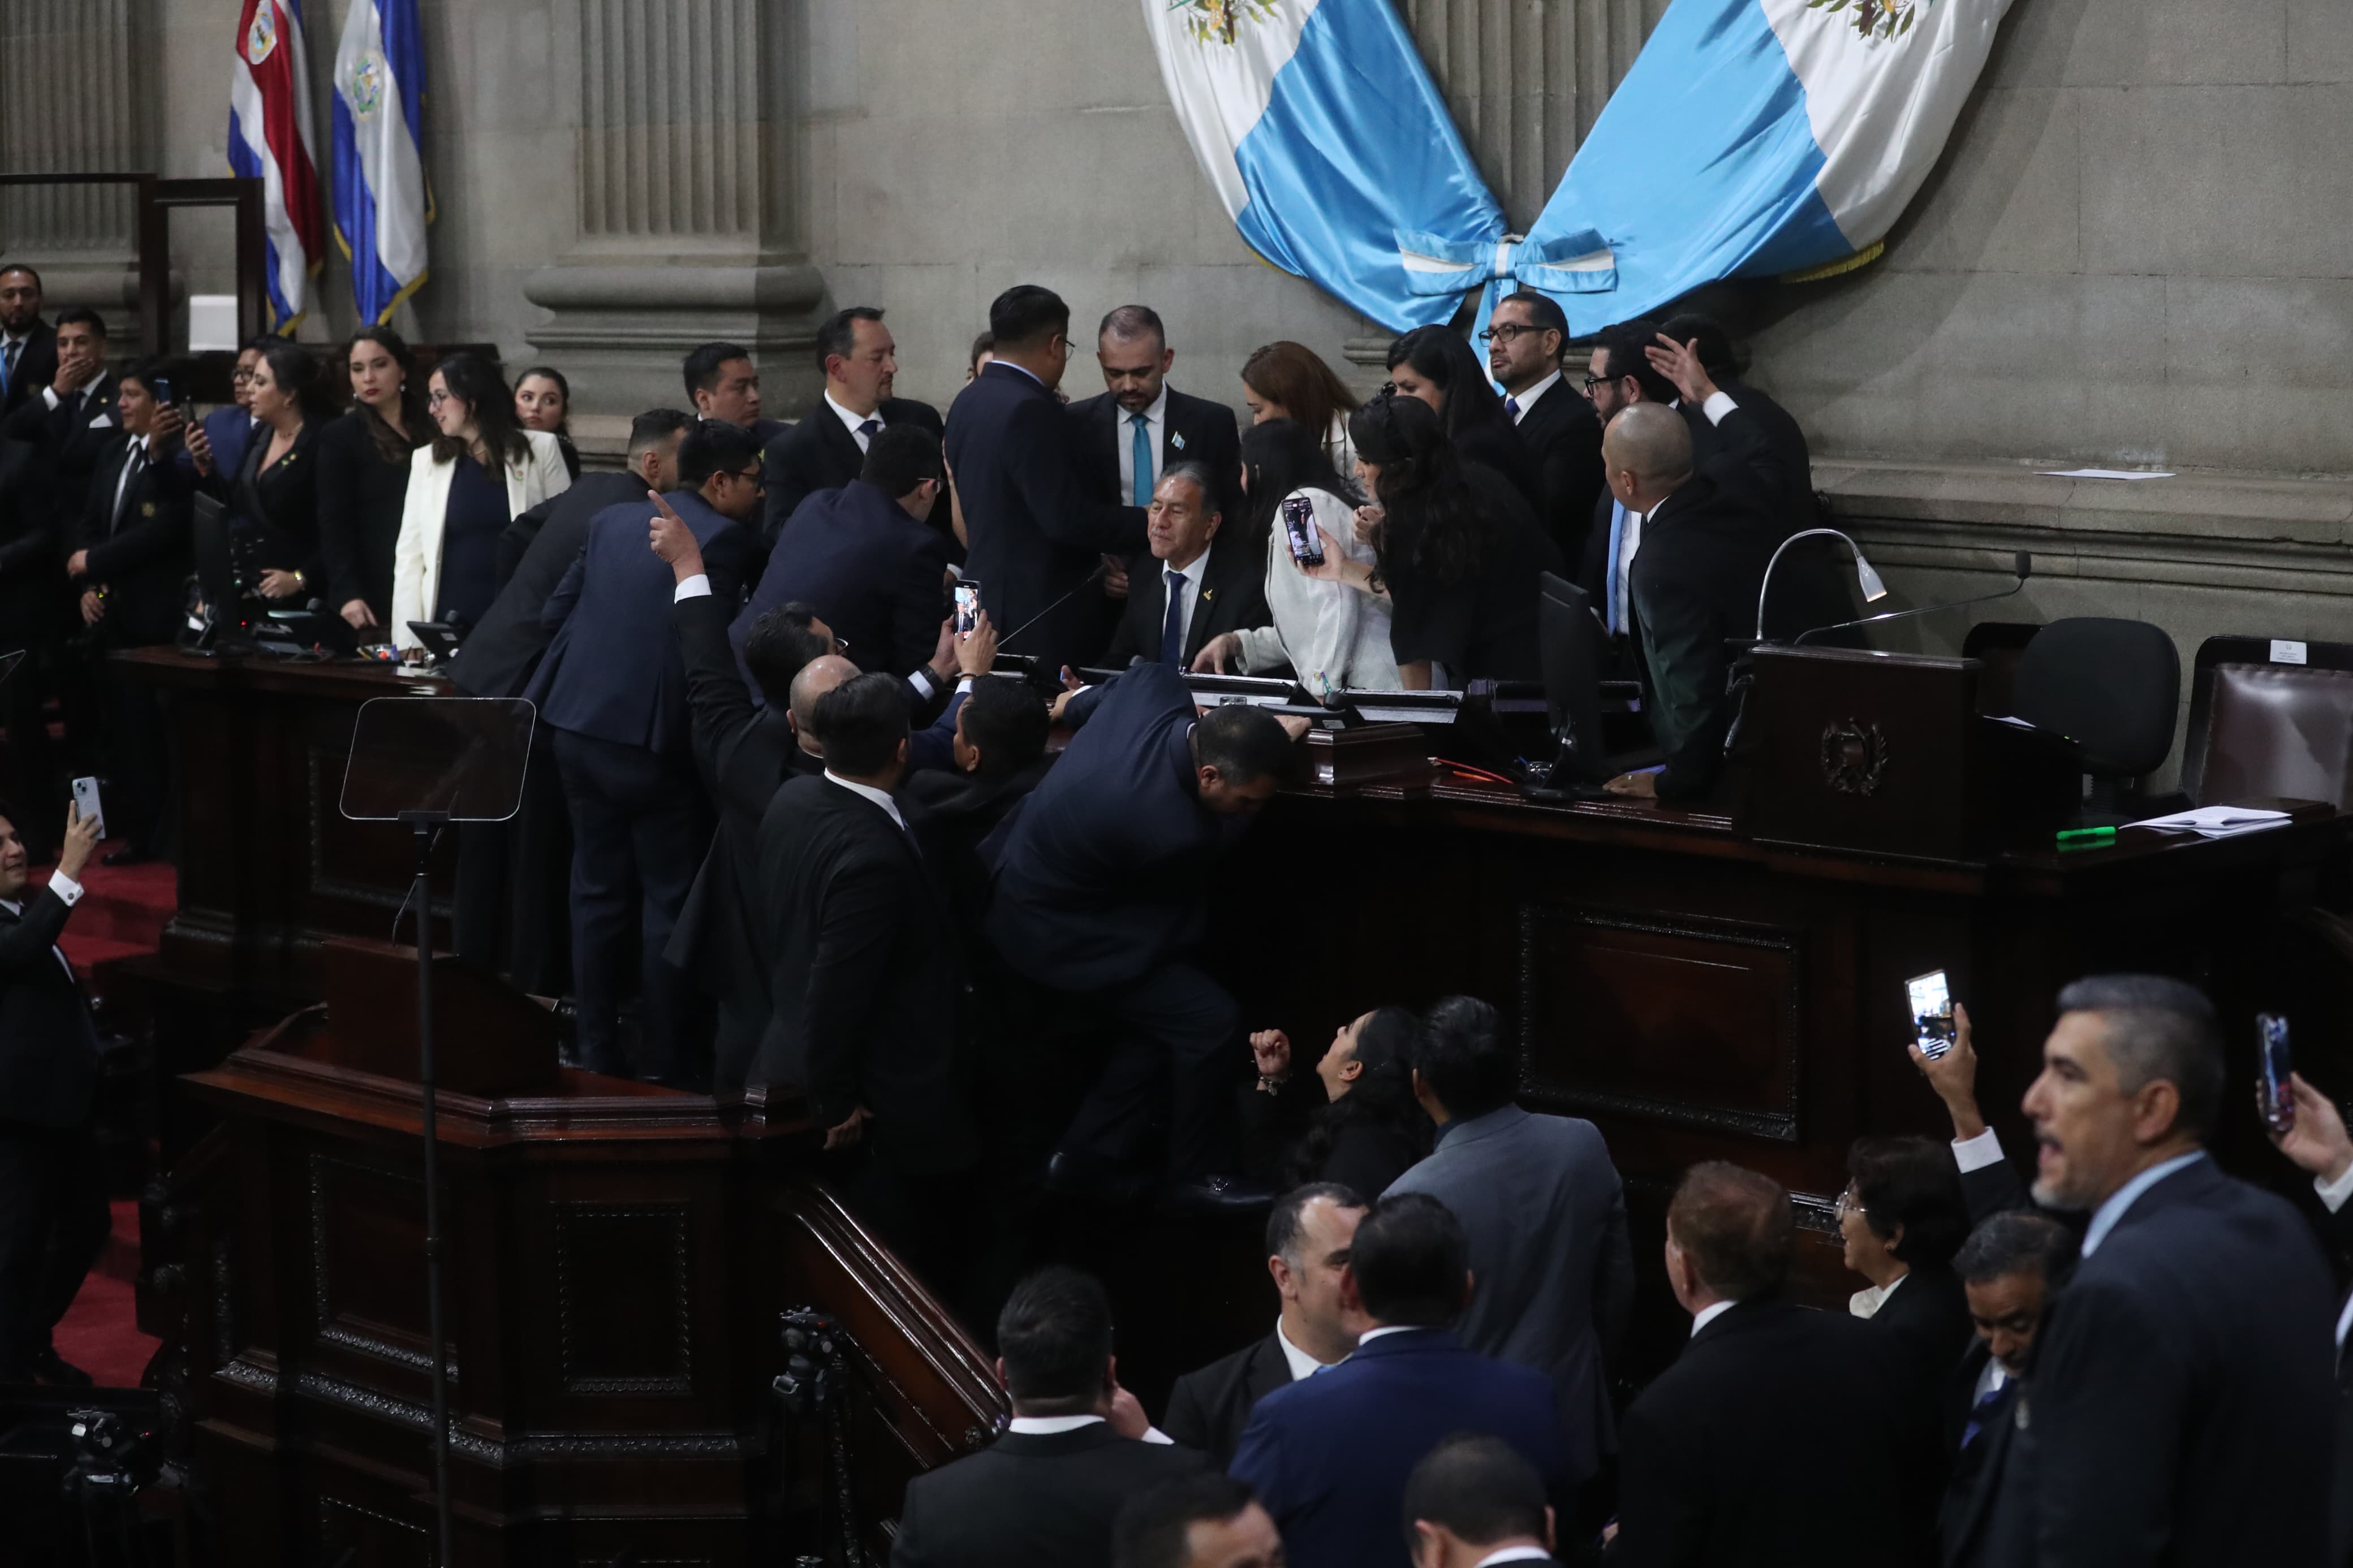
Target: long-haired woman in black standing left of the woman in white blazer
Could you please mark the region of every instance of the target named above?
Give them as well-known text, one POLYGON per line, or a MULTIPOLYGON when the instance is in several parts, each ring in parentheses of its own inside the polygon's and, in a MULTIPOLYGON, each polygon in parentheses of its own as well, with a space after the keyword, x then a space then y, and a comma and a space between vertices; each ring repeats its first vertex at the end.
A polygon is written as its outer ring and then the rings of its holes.
POLYGON ((360 327, 344 350, 351 411, 318 437, 318 536, 327 557, 327 604, 355 632, 388 642, 393 545, 409 494, 409 454, 433 430, 407 341, 360 327))

